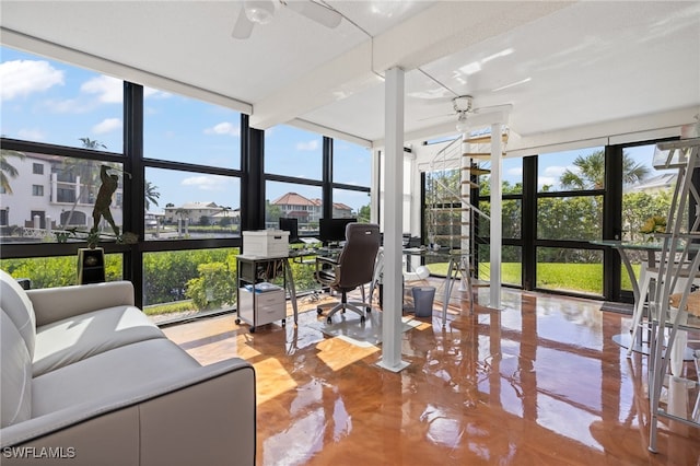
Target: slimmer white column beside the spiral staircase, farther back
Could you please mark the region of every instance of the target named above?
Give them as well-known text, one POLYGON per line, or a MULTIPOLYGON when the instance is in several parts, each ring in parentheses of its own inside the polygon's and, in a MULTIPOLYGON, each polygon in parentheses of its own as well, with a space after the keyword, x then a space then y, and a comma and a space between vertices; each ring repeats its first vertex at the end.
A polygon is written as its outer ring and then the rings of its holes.
POLYGON ((491 125, 491 281, 489 307, 501 307, 501 243, 502 243, 502 199, 501 184, 501 124, 491 125))

